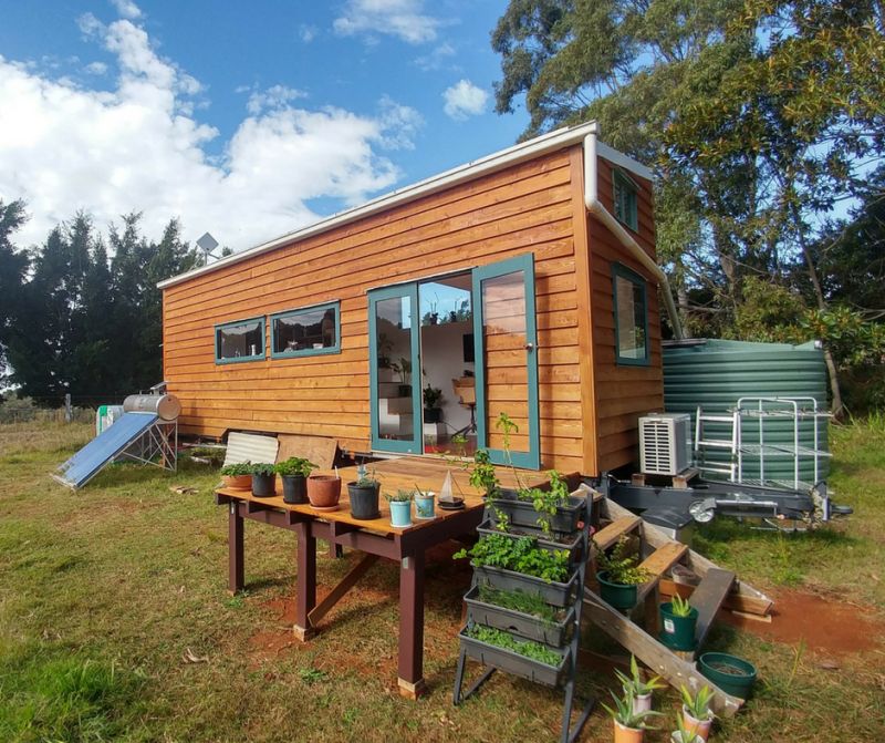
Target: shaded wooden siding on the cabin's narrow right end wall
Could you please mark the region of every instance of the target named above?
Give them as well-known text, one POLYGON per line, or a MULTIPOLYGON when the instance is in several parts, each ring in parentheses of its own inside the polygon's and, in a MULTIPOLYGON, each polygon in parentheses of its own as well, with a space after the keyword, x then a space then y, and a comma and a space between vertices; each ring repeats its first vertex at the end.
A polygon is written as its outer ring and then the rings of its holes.
MULTIPOLYGON (((598 161, 598 195, 613 211, 612 164, 598 161)), ((638 233, 636 241, 655 256, 655 228, 652 184, 635 174, 629 177, 639 187, 637 193, 638 233)), ((596 461, 585 463, 584 474, 595 475, 629 463, 638 463, 638 419, 652 411, 664 410, 664 378, 660 357, 660 316, 654 279, 632 258, 618 240, 595 218, 587 218, 590 234, 590 288, 593 326, 593 395, 595 405, 596 461), (648 367, 615 363, 615 317, 612 288, 612 265, 620 262, 646 279, 648 302, 648 367)), ((629 230, 628 230, 629 231, 629 230)))

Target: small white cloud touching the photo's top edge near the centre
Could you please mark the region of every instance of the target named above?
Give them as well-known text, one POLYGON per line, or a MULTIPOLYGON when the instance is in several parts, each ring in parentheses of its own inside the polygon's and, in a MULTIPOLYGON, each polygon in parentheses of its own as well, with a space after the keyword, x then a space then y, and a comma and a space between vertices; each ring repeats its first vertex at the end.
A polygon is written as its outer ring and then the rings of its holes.
POLYGON ((344 37, 386 33, 410 44, 436 39, 441 21, 421 12, 423 0, 347 0, 333 28, 344 37))

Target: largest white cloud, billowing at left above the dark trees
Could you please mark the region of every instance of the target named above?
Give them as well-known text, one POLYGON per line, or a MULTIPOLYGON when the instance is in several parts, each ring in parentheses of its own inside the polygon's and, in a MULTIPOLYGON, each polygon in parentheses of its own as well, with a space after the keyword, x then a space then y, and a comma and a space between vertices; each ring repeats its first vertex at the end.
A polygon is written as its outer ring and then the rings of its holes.
POLYGON ((375 116, 308 111, 289 105, 296 92, 275 86, 210 157, 205 147, 219 133, 190 114, 200 83, 131 21, 86 25, 116 58, 112 91, 0 56, 0 198, 27 202, 21 245, 85 209, 101 227, 143 211, 148 235, 179 216, 187 239, 209 230, 248 247, 315 220, 310 199, 350 205, 393 186, 399 173, 384 149, 410 146, 420 124, 389 99, 375 116))

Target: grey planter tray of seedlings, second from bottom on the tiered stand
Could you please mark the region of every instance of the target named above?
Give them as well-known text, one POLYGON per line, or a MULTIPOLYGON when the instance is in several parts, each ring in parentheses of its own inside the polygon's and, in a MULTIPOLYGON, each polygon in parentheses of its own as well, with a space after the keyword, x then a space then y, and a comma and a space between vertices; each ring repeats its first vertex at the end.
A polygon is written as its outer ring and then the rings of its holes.
POLYGON ((574 608, 551 607, 540 594, 502 591, 479 584, 467 592, 464 600, 472 619, 480 625, 553 648, 562 648, 574 629, 574 608))

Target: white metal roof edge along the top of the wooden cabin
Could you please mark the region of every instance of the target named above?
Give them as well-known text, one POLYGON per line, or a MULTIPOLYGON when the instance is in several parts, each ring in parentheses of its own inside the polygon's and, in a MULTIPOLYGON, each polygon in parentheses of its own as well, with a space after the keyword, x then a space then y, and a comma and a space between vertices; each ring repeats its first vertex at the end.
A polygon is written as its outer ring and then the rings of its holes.
MULTIPOLYGON (((451 168, 450 171, 446 171, 438 175, 430 176, 429 178, 419 180, 410 186, 392 190, 388 194, 373 198, 371 202, 366 202, 362 206, 347 209, 346 211, 339 211, 337 214, 333 214, 331 217, 326 217, 320 221, 308 225, 306 227, 302 227, 301 229, 296 229, 292 233, 281 235, 280 237, 269 240, 268 242, 262 242, 261 245, 257 245, 252 248, 247 248, 246 250, 240 250, 233 255, 226 256, 225 258, 221 258, 209 266, 201 266, 200 268, 195 268, 190 271, 186 271, 185 274, 179 274, 178 276, 174 276, 165 281, 160 281, 157 286, 160 289, 166 289, 167 287, 181 283, 183 281, 201 276, 202 274, 216 271, 225 266, 238 264, 241 260, 247 260, 248 258, 273 250, 274 248, 282 247, 283 245, 289 245, 293 241, 325 233, 335 227, 340 227, 341 225, 346 225, 357 219, 362 219, 363 217, 388 209, 392 206, 406 204, 421 196, 427 196, 428 194, 442 190, 444 188, 450 188, 457 184, 472 180, 482 175, 500 171, 510 165, 538 157, 539 155, 549 152, 554 152, 555 149, 560 149, 569 145, 577 144, 579 142, 582 142, 587 134, 596 131, 596 122, 589 122, 586 124, 581 124, 580 126, 560 128, 548 134, 542 134, 534 140, 522 142, 513 145, 512 147, 508 147, 507 149, 501 149, 500 152, 481 157, 480 159, 466 163, 465 165, 459 165, 458 167, 451 168)), ((632 157, 627 157, 626 155, 613 149, 612 147, 608 147, 607 145, 600 143, 597 145, 597 152, 601 157, 604 157, 605 159, 611 161, 612 163, 615 163, 616 165, 631 171, 643 178, 652 178, 652 171, 649 171, 645 165, 636 162, 632 157)))

